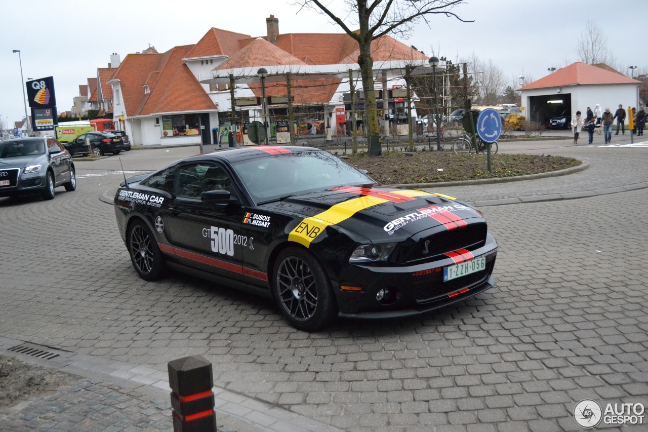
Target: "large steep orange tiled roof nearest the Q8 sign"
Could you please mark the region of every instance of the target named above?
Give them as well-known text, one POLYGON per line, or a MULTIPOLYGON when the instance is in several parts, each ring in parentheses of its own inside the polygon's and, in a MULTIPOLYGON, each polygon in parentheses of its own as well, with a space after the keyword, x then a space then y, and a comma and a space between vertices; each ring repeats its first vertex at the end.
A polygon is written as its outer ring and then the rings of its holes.
POLYGON ((127 115, 215 109, 182 61, 193 47, 184 45, 163 54, 128 54, 124 58, 115 78, 121 84, 127 115), (143 84, 148 84, 150 93, 144 93, 143 84))

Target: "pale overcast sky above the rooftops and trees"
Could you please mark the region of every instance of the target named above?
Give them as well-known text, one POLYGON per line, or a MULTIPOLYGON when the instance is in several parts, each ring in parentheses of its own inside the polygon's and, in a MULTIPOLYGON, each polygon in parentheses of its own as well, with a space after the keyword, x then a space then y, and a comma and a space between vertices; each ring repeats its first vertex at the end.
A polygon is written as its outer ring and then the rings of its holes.
MULTIPOLYGON (((266 35, 266 18, 279 19, 280 33, 342 32, 327 17, 299 10, 288 0, 183 0, 156 2, 111 0, 104 3, 32 0, 3 1, 0 27, 0 118, 10 125, 25 117, 23 87, 17 53, 21 50, 23 78, 54 77, 59 112, 70 110, 78 86, 97 77, 97 67, 108 67, 110 54, 121 58, 143 51, 149 44, 163 53, 176 45, 198 42, 211 29, 266 35)), ((341 10, 343 0, 330 0, 341 10)), ((469 0, 453 9, 463 23, 443 15, 432 16, 430 27, 421 22, 402 42, 454 62, 473 52, 499 66, 507 80, 518 75, 538 79, 548 67, 579 61, 577 44, 588 20, 607 36, 607 47, 619 71, 628 66, 648 69, 648 44, 643 24, 645 0, 587 3, 572 0, 469 0)), ((349 27, 357 28, 346 19, 349 27)), ((29 110, 29 106, 28 106, 29 110)))

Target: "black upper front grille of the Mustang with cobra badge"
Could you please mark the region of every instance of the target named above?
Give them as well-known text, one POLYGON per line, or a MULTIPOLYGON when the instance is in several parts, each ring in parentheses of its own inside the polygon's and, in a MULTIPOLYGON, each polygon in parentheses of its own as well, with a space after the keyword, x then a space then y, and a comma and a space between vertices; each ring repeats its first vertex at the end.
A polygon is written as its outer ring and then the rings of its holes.
POLYGON ((400 250, 395 256, 402 259, 401 263, 413 264, 429 261, 454 250, 475 250, 486 244, 487 231, 485 222, 468 224, 456 230, 444 230, 419 240, 415 245, 405 246, 408 250, 400 250))

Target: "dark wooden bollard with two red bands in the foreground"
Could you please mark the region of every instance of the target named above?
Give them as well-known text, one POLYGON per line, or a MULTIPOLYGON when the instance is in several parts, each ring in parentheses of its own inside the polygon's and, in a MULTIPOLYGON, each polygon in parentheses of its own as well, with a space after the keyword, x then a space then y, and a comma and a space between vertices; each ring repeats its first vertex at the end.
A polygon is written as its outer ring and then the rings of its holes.
POLYGON ((214 377, 202 355, 168 362, 174 432, 216 432, 214 377))

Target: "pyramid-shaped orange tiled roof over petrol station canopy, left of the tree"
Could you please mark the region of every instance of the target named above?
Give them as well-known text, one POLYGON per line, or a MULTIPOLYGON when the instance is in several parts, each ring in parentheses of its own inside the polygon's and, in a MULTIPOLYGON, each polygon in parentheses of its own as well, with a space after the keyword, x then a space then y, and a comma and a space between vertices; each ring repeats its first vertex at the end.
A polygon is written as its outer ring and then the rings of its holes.
POLYGON ((237 67, 259 67, 279 65, 303 65, 304 62, 275 47, 272 43, 263 38, 257 38, 238 51, 233 57, 220 64, 214 70, 236 69, 237 67))

